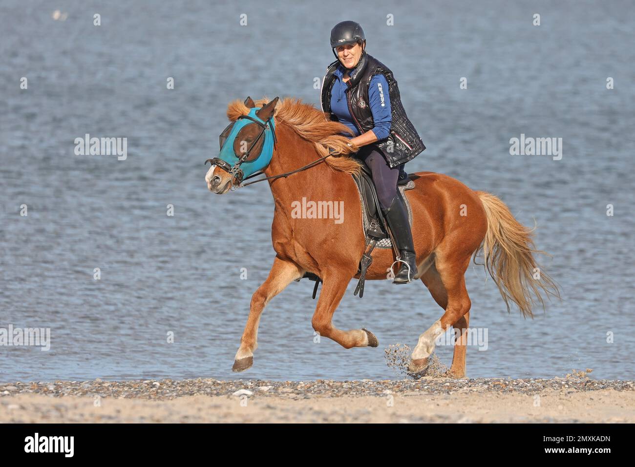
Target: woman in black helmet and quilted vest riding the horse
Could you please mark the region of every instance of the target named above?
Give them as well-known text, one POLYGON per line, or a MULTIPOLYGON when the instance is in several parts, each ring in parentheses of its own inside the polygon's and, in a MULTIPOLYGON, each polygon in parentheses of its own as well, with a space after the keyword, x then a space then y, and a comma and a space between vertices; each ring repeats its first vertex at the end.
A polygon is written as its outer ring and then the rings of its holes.
POLYGON ((371 169, 382 212, 403 261, 397 264, 393 283, 408 283, 417 275, 417 263, 408 211, 397 184, 407 180, 404 164, 425 146, 401 105, 392 72, 366 53, 361 26, 354 21, 335 25, 331 49, 337 60, 328 66, 322 81, 322 110, 356 135, 351 138, 360 147, 356 157, 371 169))

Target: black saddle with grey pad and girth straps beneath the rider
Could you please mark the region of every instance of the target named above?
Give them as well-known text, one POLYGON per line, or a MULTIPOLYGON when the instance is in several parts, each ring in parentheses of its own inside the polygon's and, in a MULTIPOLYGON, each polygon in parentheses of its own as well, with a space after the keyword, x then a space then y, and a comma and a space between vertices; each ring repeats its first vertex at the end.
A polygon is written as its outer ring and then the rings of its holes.
MULTIPOLYGON (((364 255, 362 256, 361 261, 359 261, 358 266, 358 273, 360 274, 359 281, 354 292, 354 295, 359 293, 359 298, 362 298, 364 296, 366 271, 368 270, 371 262, 373 262, 371 253, 375 247, 392 248, 392 234, 388 223, 384 219, 384 215, 377 198, 377 189, 375 189, 375 184, 373 183, 373 174, 368 165, 363 163, 363 161, 360 162, 361 171, 359 172, 359 175, 354 174, 352 177, 353 180, 355 180, 355 184, 359 191, 359 198, 362 207, 363 228, 364 234, 366 235, 364 255)), ((403 180, 400 179, 397 187, 401 191, 401 196, 403 196, 403 199, 406 202, 406 207, 408 208, 408 222, 412 225, 412 211, 410 203, 403 192, 413 189, 415 187, 415 183, 409 178, 403 180)), ((313 299, 315 299, 316 294, 318 293, 318 285, 322 281, 321 278, 314 273, 307 272, 304 273, 304 276, 300 279, 296 279, 296 281, 300 281, 304 278, 315 281, 315 286, 313 288, 313 299)))

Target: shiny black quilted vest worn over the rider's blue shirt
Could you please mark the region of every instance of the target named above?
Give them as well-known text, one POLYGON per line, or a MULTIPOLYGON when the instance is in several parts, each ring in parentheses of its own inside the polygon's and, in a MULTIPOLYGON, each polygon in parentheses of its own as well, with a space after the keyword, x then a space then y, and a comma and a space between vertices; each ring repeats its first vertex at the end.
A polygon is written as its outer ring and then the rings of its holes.
MULTIPOLYGON (((331 112, 331 89, 337 78, 333 72, 339 64, 339 60, 335 60, 328 65, 322 81, 322 111, 327 113, 331 120, 337 120, 335 114, 331 112)), ((394 167, 414 159, 420 152, 424 151, 425 146, 415 126, 408 119, 403 105, 401 105, 399 88, 396 79, 392 76, 392 71, 382 62, 364 52, 347 83, 349 88, 346 95, 349 111, 359 134, 371 130, 375 125, 373 125, 373 114, 370 111, 370 105, 368 105, 368 86, 370 79, 378 73, 383 74, 388 82, 392 123, 388 137, 373 144, 384 152, 389 165, 394 167)))

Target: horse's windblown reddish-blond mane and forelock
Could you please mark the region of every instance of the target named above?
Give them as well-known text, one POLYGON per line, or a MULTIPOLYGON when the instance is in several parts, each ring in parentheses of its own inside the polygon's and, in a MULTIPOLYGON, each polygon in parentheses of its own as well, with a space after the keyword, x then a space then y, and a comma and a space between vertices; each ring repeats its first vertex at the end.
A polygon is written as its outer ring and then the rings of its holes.
MULTIPOLYGON (((264 97, 254 101, 256 107, 267 104, 269 99, 264 97)), ((244 105, 242 100, 234 100, 227 105, 227 118, 231 121, 241 115, 246 115, 250 108, 244 105)), ((327 156, 329 149, 333 149, 335 154, 324 159, 331 168, 341 170, 346 173, 359 173, 361 170, 359 162, 354 158, 346 156, 354 151, 347 145, 349 139, 338 133, 348 133, 353 135, 351 129, 338 121, 327 120, 324 113, 316 109, 312 104, 304 104, 302 99, 283 98, 276 104, 274 110, 274 120, 276 125, 285 123, 300 138, 312 142, 320 157, 327 156)))

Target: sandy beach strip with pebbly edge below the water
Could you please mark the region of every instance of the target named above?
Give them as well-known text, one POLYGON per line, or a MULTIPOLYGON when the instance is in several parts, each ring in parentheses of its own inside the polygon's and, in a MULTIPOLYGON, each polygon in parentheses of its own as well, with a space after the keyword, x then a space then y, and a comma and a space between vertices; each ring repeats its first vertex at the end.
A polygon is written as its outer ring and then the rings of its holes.
POLYGON ((0 423, 634 423, 635 382, 215 379, 0 384, 0 423))

